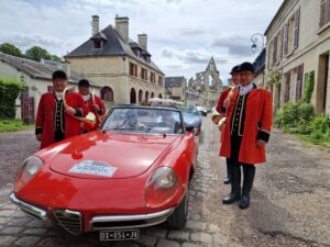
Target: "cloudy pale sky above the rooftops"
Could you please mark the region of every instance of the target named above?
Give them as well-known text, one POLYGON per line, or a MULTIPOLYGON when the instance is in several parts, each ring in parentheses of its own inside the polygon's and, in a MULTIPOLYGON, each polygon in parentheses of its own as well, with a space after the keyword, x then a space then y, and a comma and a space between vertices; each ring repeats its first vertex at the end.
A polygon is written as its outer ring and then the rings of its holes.
POLYGON ((283 0, 0 0, 0 44, 23 52, 40 45, 63 56, 91 35, 91 15, 100 30, 114 16, 130 19, 130 37, 148 36, 152 59, 166 76, 206 69, 215 56, 224 83, 232 66, 253 61, 251 35, 264 33, 283 0))

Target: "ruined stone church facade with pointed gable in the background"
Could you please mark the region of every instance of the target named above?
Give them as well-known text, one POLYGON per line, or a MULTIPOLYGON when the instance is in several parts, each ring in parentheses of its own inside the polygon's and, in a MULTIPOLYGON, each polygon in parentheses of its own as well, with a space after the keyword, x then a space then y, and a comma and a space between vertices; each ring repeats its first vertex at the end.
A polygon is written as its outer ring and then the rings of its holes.
POLYGON ((199 93, 201 105, 215 106, 217 104, 222 90, 222 82, 213 57, 211 57, 205 71, 197 72, 196 78, 189 80, 188 87, 199 93))

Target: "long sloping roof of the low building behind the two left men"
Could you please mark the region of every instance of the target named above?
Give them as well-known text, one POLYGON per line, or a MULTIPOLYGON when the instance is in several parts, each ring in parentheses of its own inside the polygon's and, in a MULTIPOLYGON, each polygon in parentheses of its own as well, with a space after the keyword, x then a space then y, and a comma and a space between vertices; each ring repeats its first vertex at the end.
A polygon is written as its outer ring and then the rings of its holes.
MULTIPOLYGON (((47 79, 52 80, 52 75, 55 70, 63 69, 63 67, 54 66, 50 64, 42 64, 38 61, 21 58, 21 57, 14 57, 8 54, 3 54, 0 52, 0 60, 16 68, 18 70, 21 70, 32 78, 35 79, 47 79)), ((62 65, 61 65, 62 66, 62 65)), ((78 83, 81 79, 88 79, 84 77, 82 75, 75 72, 70 70, 70 77, 68 78, 68 81, 78 83)), ((100 87, 95 81, 88 79, 90 81, 90 85, 94 87, 100 87)))

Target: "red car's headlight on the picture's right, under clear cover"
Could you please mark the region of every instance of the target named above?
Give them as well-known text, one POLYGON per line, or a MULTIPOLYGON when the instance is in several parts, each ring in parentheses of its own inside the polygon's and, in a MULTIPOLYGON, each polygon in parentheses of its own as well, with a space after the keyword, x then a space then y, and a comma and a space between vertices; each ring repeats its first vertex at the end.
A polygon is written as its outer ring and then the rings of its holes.
POLYGON ((144 194, 147 207, 157 207, 170 201, 178 190, 178 178, 169 167, 156 169, 145 183, 144 194))

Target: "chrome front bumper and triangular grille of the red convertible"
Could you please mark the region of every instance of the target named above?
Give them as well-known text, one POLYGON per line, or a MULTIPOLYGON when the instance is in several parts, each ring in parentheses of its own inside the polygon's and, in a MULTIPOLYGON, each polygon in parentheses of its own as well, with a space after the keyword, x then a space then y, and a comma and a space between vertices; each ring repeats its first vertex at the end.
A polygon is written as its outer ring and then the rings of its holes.
POLYGON ((146 214, 123 214, 123 215, 98 215, 91 218, 84 218, 84 212, 72 210, 54 209, 51 214, 55 217, 48 217, 47 211, 36 207, 32 204, 18 199, 14 193, 9 195, 10 200, 24 212, 32 214, 41 220, 54 220, 68 233, 79 235, 82 232, 95 232, 101 229, 125 229, 125 228, 143 228, 158 225, 165 222, 174 212, 175 207, 146 214), (84 223, 88 228, 84 227, 84 223), (85 228, 85 231, 84 231, 85 228))

